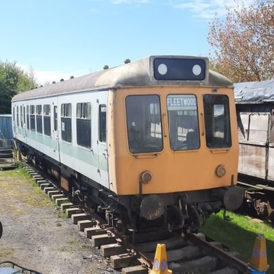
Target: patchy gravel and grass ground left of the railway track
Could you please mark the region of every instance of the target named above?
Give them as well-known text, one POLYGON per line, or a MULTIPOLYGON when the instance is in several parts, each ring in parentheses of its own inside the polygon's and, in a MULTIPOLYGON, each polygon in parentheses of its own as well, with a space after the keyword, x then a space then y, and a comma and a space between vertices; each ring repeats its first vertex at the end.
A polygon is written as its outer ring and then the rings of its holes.
POLYGON ((116 272, 23 169, 0 171, 0 190, 0 262, 43 274, 116 272))

